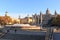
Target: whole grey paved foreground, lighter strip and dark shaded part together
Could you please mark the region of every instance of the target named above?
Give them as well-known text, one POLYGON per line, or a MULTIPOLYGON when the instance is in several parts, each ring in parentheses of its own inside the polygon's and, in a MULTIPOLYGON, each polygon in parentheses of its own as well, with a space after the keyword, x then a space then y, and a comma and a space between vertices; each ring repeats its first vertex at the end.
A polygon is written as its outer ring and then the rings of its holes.
MULTIPOLYGON (((44 33, 45 34, 45 33, 44 33)), ((1 39, 10 39, 10 40, 45 40, 45 36, 43 35, 43 32, 37 32, 37 31, 12 31, 10 30, 7 34, 1 37, 1 39), (39 35, 41 34, 41 35, 39 35)))

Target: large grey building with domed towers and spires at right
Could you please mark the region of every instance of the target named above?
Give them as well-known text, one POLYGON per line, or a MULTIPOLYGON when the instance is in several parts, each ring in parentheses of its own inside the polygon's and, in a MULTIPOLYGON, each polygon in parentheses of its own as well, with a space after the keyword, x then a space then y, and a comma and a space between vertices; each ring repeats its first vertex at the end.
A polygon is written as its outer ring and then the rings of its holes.
POLYGON ((49 21, 52 17, 56 17, 56 16, 57 16, 56 10, 55 10, 55 12, 54 12, 54 15, 52 15, 52 14, 50 14, 50 10, 47 8, 46 14, 43 14, 42 12, 40 12, 39 15, 35 14, 35 15, 32 16, 32 18, 33 18, 33 20, 34 20, 33 24, 40 25, 41 22, 42 22, 43 25, 44 25, 44 24, 47 24, 48 21, 49 21), (42 20, 42 21, 41 21, 41 20, 42 20))

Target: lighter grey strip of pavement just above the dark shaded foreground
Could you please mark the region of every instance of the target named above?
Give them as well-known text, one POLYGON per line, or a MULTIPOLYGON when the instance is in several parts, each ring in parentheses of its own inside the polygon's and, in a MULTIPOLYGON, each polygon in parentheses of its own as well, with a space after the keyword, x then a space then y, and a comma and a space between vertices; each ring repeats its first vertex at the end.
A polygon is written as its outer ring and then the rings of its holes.
POLYGON ((11 34, 27 34, 27 35, 45 35, 44 31, 29 31, 29 30, 17 30, 17 31, 9 30, 8 33, 11 33, 11 34))

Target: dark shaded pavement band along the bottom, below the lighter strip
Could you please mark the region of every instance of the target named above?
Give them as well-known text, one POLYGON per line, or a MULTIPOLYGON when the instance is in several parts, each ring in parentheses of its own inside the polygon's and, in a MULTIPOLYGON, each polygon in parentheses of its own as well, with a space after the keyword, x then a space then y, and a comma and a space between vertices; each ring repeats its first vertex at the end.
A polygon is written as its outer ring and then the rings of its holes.
POLYGON ((40 35, 23 35, 23 34, 6 34, 2 39, 12 40, 45 40, 45 36, 40 35))

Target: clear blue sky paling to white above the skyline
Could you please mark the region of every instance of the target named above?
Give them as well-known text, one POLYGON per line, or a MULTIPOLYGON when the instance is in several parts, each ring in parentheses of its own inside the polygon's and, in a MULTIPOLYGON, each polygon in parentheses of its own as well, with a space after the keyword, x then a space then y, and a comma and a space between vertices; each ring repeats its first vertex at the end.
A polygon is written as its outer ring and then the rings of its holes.
POLYGON ((45 14, 46 9, 54 14, 56 10, 60 13, 60 0, 0 0, 0 15, 8 15, 17 18, 19 15, 25 17, 27 15, 39 14, 40 11, 45 14))

